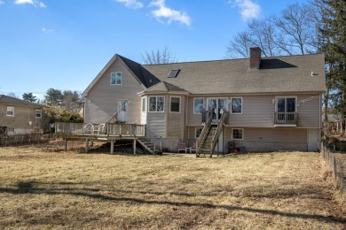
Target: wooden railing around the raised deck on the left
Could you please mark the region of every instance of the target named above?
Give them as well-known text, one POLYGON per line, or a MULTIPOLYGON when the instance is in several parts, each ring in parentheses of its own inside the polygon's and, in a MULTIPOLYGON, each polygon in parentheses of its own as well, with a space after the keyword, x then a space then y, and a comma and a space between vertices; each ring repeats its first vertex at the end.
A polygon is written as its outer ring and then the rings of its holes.
POLYGON ((55 123, 55 134, 108 135, 108 136, 145 136, 145 125, 137 124, 90 124, 55 123))

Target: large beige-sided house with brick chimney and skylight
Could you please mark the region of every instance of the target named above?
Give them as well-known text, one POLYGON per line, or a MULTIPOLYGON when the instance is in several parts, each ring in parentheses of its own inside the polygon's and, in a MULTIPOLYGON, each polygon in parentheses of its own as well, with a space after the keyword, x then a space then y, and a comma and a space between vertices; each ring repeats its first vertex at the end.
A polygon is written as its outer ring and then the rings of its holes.
POLYGON ((323 54, 261 58, 251 48, 249 59, 162 65, 115 55, 83 92, 84 119, 105 123, 117 112, 118 122, 146 125, 147 136, 177 150, 200 137, 212 111, 210 126, 224 119, 218 151, 230 141, 249 151, 317 151, 325 88, 323 54))

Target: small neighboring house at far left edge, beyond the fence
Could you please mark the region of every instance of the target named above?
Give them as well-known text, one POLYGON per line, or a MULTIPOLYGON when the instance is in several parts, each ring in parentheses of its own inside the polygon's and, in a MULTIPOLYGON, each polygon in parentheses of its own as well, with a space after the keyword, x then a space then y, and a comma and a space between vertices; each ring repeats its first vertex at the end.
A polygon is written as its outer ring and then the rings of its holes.
POLYGON ((0 134, 41 133, 43 105, 0 95, 0 134))

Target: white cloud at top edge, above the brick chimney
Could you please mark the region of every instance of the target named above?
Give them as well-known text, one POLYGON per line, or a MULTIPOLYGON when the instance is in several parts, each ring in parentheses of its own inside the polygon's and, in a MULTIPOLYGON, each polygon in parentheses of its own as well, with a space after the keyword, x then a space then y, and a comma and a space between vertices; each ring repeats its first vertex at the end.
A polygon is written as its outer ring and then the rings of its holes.
POLYGON ((261 6, 252 0, 234 0, 228 4, 240 8, 241 18, 245 20, 257 18, 261 12, 261 6))

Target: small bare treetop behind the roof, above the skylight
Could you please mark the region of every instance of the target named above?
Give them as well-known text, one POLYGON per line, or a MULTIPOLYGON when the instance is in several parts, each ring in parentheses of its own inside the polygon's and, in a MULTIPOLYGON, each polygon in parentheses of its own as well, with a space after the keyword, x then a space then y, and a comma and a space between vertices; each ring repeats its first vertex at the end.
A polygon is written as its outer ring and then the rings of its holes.
POLYGON ((165 45, 163 50, 151 50, 145 51, 145 54, 141 54, 144 64, 168 64, 177 62, 176 56, 169 50, 169 46, 165 45))

